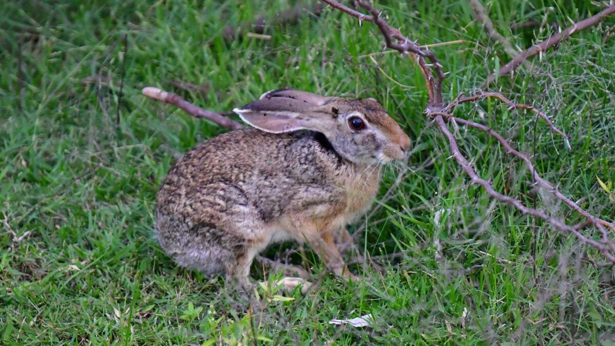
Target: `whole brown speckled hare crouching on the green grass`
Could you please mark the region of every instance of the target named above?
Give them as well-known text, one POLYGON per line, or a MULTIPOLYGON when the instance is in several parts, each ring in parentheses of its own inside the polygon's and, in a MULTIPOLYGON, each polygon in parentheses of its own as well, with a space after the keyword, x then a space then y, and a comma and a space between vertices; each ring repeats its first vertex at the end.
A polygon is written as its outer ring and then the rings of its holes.
POLYGON ((336 239, 352 240, 346 225, 368 211, 379 167, 405 157, 408 135, 375 99, 279 89, 233 111, 254 128, 188 151, 157 193, 161 247, 183 267, 250 288, 255 255, 290 239, 355 280, 336 239))

